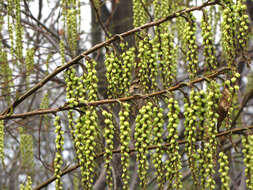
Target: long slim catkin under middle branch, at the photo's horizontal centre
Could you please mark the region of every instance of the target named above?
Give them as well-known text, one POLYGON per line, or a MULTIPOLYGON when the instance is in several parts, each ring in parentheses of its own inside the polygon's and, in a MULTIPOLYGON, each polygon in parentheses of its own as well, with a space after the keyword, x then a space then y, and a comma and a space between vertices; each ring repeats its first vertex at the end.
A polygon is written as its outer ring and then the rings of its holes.
POLYGON ((129 144, 130 144, 130 132, 131 127, 129 123, 130 105, 128 103, 121 103, 121 110, 119 112, 120 120, 120 149, 121 149, 121 165, 122 165, 122 182, 123 190, 128 189, 129 183, 129 144))

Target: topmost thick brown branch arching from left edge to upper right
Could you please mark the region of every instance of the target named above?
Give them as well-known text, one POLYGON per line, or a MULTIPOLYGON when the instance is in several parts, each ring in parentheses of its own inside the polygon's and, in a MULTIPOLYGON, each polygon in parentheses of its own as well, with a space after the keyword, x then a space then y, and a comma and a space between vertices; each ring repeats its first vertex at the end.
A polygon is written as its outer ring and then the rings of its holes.
POLYGON ((211 5, 216 5, 219 3, 219 0, 215 0, 213 2, 206 2, 206 3, 203 3, 202 5, 200 6, 196 6, 196 7, 191 7, 191 8, 187 8, 187 9, 183 9, 183 10, 180 10, 180 11, 177 11, 165 18, 162 18, 158 21, 154 21, 154 22, 150 22, 150 23, 147 23, 147 24, 144 24, 140 27, 137 27, 137 28, 134 28, 132 30, 129 30, 127 32, 124 32, 124 33, 121 33, 121 34, 118 34, 118 35, 114 35, 112 38, 104 41, 104 42, 101 42, 101 43, 98 43, 97 45, 93 46, 92 48, 90 48, 89 50, 86 50, 84 51, 82 54, 76 56, 75 58, 73 58, 71 61, 69 61, 68 63, 58 67, 57 69, 55 69, 54 72, 52 72, 51 74, 47 75, 44 79, 42 79, 38 84, 36 84, 33 88, 29 89, 27 92, 25 92, 25 94, 23 94, 22 96, 20 96, 18 99, 16 99, 12 105, 10 105, 5 111, 3 111, 1 113, 1 115, 7 115, 9 114, 10 112, 12 112, 20 103, 22 103, 27 97, 29 97, 30 95, 32 95, 34 92, 36 92, 38 89, 40 89, 41 87, 43 87, 48 81, 50 81, 54 76, 56 76, 58 73, 62 72, 63 70, 69 68, 70 66, 74 65, 74 64, 77 64, 78 61, 80 61, 81 59, 83 59, 85 57, 85 55, 88 55, 116 40, 120 40, 121 37, 127 37, 129 35, 132 35, 134 34, 135 32, 139 32, 145 28, 149 28, 149 27, 152 27, 152 26, 155 26, 155 25, 159 25, 163 22, 166 22, 168 20, 171 20, 173 18, 176 18, 176 17, 180 17, 182 16, 183 14, 185 13, 188 13, 188 12, 192 12, 192 11, 195 11, 195 10, 201 10, 202 8, 204 7, 207 7, 207 6, 211 6, 211 5))

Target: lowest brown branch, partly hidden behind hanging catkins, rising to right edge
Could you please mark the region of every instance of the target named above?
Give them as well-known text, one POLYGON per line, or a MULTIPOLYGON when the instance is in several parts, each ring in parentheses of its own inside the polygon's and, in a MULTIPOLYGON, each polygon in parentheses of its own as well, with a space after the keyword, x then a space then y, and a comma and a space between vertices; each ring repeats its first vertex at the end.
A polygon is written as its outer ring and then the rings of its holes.
MULTIPOLYGON (((227 130, 227 131, 223 131, 223 132, 218 133, 216 135, 216 138, 219 138, 219 137, 222 137, 222 136, 228 136, 228 135, 232 135, 232 134, 242 134, 244 131, 247 131, 247 130, 250 130, 250 129, 253 129, 253 125, 245 127, 245 128, 234 128, 234 129, 231 129, 231 130, 227 130)), ((185 143, 187 143, 186 140, 178 141, 178 144, 180 144, 180 145, 185 144, 185 143)), ((162 147, 166 148, 169 145, 170 145, 170 143, 165 143, 165 144, 162 145, 162 147)), ((160 148, 160 146, 157 146, 157 145, 148 146, 148 150, 153 150, 153 149, 156 149, 156 148, 160 148)), ((119 149, 112 151, 113 154, 120 153, 120 152, 121 151, 119 149)), ((130 153, 133 153, 133 152, 136 152, 136 149, 134 149, 134 148, 130 149, 130 153)), ((105 152, 102 152, 102 153, 98 154, 96 156, 96 159, 103 157, 104 154, 105 154, 105 152)), ((75 169, 77 169, 79 167, 80 167, 80 165, 76 164, 76 165, 74 165, 74 166, 72 166, 68 169, 65 169, 64 171, 62 171, 61 176, 64 176, 64 175, 74 171, 75 169)), ((37 187, 35 187, 33 190, 42 189, 42 188, 46 187, 47 185, 49 185, 50 183, 52 183, 55 179, 56 179, 56 177, 51 177, 47 181, 45 181, 45 182, 41 183, 40 185, 38 185, 37 187)))

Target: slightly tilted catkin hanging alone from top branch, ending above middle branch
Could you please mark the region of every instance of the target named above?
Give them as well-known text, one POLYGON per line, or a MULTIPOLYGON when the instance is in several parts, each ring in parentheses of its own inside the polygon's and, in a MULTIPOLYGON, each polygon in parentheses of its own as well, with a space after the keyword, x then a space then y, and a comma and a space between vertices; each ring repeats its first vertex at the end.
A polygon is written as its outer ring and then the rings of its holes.
POLYGON ((212 27, 209 23, 208 15, 205 11, 203 11, 201 29, 204 45, 205 64, 208 71, 213 71, 217 68, 217 60, 213 42, 212 27))

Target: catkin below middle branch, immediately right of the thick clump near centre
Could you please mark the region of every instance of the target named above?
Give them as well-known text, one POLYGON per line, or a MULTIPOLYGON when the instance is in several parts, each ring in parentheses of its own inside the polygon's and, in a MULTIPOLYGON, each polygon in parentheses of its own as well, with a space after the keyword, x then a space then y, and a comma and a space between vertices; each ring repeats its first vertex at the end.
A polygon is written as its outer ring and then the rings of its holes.
POLYGON ((162 148, 163 144, 163 132, 164 132, 164 118, 163 118, 163 109, 158 106, 153 107, 153 131, 152 134, 154 136, 152 144, 157 145, 154 154, 152 154, 153 165, 156 169, 155 176, 157 179, 157 183, 159 189, 164 188, 165 177, 164 177, 164 164, 162 161, 162 157, 164 154, 164 149, 162 148))

